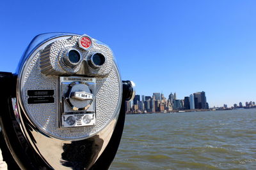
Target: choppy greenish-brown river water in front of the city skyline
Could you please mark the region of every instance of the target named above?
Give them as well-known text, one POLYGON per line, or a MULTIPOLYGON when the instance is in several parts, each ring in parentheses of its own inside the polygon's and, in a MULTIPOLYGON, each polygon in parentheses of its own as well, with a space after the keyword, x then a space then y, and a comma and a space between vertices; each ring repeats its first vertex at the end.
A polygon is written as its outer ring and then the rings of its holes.
POLYGON ((256 169, 256 109, 126 115, 110 169, 256 169))

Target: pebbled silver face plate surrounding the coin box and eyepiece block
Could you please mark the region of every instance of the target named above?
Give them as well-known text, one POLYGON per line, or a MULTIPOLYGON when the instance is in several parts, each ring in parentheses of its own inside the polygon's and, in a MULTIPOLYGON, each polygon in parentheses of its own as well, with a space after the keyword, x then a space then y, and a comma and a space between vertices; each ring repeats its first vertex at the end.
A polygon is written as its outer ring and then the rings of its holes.
MULTIPOLYGON (((62 44, 63 42, 69 42, 67 39, 71 39, 71 43, 74 41, 74 38, 70 36, 65 36, 61 39, 57 38, 52 41, 54 41, 54 44, 58 44, 57 42, 62 44)), ((78 37, 76 39, 78 39, 78 37)), ((108 124, 109 121, 111 121, 111 119, 118 116, 118 110, 116 110, 116 108, 120 107, 122 95, 122 85, 120 83, 119 73, 117 69, 115 69, 115 64, 113 64, 114 67, 111 69, 108 76, 104 78, 97 78, 95 92, 97 124, 94 127, 77 127, 76 132, 73 133, 70 133, 69 129, 59 129, 58 115, 60 113, 58 112, 60 111, 58 111, 58 108, 60 108, 60 103, 58 101, 61 101, 61 99, 58 98, 58 96, 60 96, 58 95, 58 76, 45 76, 42 74, 39 62, 40 50, 44 49, 49 44, 52 44, 52 41, 48 41, 44 45, 40 46, 40 48, 37 48, 24 65, 22 73, 19 74, 21 78, 19 81, 19 89, 22 94, 20 101, 22 101, 22 104, 24 105, 24 110, 26 110, 24 113, 28 115, 29 120, 31 120, 36 127, 41 129, 41 131, 44 131, 45 134, 53 136, 54 138, 68 140, 88 138, 100 131, 104 126, 106 126, 106 124, 108 124), (29 89, 54 90, 54 103, 37 105, 26 104, 28 99, 26 90, 29 89)), ((93 50, 93 48, 96 47, 97 45, 93 45, 90 50, 93 50)), ((97 51, 99 51, 99 46, 97 51)), ((110 61, 108 60, 108 62, 110 61)), ((58 69, 58 67, 56 67, 56 69, 58 69)))

